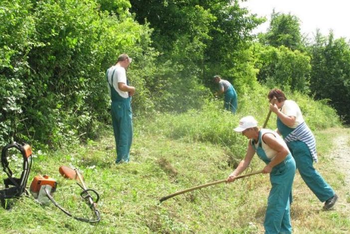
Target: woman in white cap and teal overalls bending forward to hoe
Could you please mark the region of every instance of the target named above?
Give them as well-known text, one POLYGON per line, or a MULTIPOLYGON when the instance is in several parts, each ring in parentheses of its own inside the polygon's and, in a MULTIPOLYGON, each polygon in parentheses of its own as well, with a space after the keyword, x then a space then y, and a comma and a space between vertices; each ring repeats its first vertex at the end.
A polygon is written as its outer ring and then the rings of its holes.
POLYGON ((283 139, 274 131, 260 129, 252 116, 239 121, 234 129, 249 139, 245 158, 229 175, 227 182, 247 169, 255 153, 266 163, 263 173, 270 173, 271 191, 267 200, 264 221, 265 233, 292 233, 290 221, 290 201, 292 184, 295 175, 295 161, 283 139))

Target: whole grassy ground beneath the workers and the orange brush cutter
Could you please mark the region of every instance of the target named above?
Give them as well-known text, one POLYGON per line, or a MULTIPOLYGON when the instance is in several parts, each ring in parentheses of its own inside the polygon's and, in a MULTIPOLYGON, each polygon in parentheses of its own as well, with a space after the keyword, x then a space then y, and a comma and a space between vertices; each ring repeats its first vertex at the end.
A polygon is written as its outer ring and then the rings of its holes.
MULTIPOLYGON (((35 149, 28 184, 37 174, 55 178, 58 187, 54 199, 76 216, 92 217, 79 196, 81 189, 58 172, 61 165, 78 167, 87 187, 100 193, 101 222, 82 223, 52 204, 42 207, 31 198, 22 197, 14 200, 10 211, 0 209, 0 233, 262 233, 270 190, 268 175, 255 175, 159 202, 161 197, 176 191, 227 178, 244 157, 246 139, 232 131, 239 113, 232 116, 210 108, 213 110, 136 120, 128 164, 114 164, 111 129, 98 141, 84 145, 56 151, 35 149)), ((266 114, 267 111, 260 113, 260 123, 266 114)), ((273 128, 274 124, 272 116, 269 126, 273 128)), ((344 129, 338 129, 339 132, 348 134, 344 129)), ((349 233, 349 185, 330 157, 335 150, 330 139, 336 131, 315 133, 320 154, 320 162, 315 166, 341 195, 343 205, 322 211, 323 204, 297 174, 292 205, 294 232, 349 233)), ((255 156, 247 173, 263 166, 255 156)))

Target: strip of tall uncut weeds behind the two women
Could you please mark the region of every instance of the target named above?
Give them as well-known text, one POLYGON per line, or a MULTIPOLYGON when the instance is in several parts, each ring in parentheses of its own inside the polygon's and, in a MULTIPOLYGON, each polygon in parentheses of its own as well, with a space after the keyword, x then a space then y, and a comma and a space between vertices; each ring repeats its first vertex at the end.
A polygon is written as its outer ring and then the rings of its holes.
MULTIPOLYGON (((233 115, 223 110, 222 100, 205 101, 202 109, 181 114, 156 113, 152 118, 138 123, 140 131, 162 134, 187 142, 210 142, 224 147, 232 156, 242 157, 246 139, 233 131, 243 116, 252 115, 262 126, 269 112, 268 89, 257 86, 248 94, 238 97, 238 112, 233 115), (152 119, 152 120, 151 120, 152 119)), ((301 93, 287 92, 288 99, 295 100, 312 130, 321 130, 340 125, 336 111, 324 101, 314 101, 301 93)), ((267 128, 276 128, 276 115, 272 113, 267 128)))

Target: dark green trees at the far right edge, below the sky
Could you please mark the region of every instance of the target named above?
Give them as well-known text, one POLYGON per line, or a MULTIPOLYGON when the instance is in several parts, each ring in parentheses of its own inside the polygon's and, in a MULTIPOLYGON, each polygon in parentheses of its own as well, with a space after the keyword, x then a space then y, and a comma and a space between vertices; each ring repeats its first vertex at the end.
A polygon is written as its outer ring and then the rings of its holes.
POLYGON ((350 122, 350 45, 317 30, 312 54, 311 90, 317 99, 329 99, 346 122, 350 122))

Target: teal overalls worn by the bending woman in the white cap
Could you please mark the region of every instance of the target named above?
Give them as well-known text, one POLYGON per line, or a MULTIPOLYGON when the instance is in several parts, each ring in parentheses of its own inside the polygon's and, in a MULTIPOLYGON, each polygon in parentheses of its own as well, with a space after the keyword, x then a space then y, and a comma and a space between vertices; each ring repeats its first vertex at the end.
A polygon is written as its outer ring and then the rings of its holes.
MULTIPOLYGON (((263 129, 261 129, 263 130, 263 129)), ((262 148, 262 131, 259 132, 258 147, 254 140, 252 146, 259 158, 266 164, 271 159, 266 156, 262 148)), ((267 199, 266 216, 264 221, 265 234, 291 234, 289 198, 295 175, 295 161, 289 153, 283 162, 272 168, 270 173, 271 190, 267 199)))

